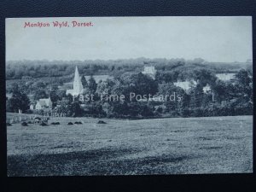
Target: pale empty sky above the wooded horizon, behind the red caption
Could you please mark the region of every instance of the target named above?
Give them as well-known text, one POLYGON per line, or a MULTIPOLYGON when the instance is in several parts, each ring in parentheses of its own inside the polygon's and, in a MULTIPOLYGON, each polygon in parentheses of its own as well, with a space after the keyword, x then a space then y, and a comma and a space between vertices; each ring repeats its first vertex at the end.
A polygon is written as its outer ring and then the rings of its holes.
POLYGON ((6 19, 6 60, 253 59, 252 17, 68 17, 6 19), (54 27, 67 21, 69 27, 54 27), (74 26, 72 21, 93 26, 74 26), (49 27, 24 27, 25 22, 49 27))

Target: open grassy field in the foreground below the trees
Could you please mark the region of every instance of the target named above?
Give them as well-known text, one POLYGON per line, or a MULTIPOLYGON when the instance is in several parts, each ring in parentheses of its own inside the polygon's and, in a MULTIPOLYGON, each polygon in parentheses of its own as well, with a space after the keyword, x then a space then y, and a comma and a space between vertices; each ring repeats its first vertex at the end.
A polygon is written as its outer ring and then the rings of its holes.
POLYGON ((8 175, 253 172, 252 116, 103 120, 8 126, 8 175))

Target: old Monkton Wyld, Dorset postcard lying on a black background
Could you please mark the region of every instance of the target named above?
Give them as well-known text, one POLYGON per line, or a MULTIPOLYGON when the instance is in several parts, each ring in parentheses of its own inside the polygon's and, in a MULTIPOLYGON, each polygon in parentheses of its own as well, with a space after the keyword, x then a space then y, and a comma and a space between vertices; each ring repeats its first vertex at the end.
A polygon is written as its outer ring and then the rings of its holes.
POLYGON ((252 17, 5 22, 9 177, 253 172, 252 17))

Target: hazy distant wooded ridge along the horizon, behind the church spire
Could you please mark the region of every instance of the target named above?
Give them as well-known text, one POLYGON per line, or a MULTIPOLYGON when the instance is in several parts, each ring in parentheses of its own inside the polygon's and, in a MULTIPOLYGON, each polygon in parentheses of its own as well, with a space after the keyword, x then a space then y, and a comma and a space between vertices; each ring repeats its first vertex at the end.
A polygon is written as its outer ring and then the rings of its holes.
POLYGON ((196 58, 186 61, 180 59, 147 59, 137 58, 130 60, 109 60, 109 61, 7 61, 6 79, 37 79, 49 77, 66 77, 73 74, 73 66, 79 67, 79 72, 84 75, 109 74, 119 75, 125 72, 141 72, 145 65, 152 65, 158 71, 170 72, 174 69, 179 72, 191 70, 194 67, 201 67, 211 70, 214 73, 229 73, 230 68, 237 70, 247 67, 252 70, 250 63, 211 63, 196 58))

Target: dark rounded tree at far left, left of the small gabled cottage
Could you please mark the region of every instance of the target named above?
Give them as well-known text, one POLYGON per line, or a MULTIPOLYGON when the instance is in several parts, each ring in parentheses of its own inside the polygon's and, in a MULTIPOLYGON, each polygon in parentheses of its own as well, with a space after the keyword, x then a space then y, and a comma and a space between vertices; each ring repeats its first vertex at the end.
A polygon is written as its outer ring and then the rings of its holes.
POLYGON ((19 109, 22 112, 26 112, 29 109, 30 101, 24 91, 20 90, 18 84, 13 84, 11 92, 13 95, 9 99, 9 109, 12 112, 18 112, 19 109))

